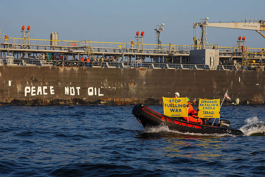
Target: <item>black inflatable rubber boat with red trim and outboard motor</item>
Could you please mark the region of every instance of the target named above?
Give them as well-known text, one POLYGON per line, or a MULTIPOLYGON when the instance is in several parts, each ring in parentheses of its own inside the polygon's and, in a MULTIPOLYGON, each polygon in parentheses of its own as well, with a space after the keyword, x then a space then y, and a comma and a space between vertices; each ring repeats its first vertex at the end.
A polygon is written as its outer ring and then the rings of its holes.
POLYGON ((231 134, 231 135, 244 135, 241 130, 230 128, 229 120, 220 120, 220 123, 211 126, 211 123, 206 122, 206 125, 196 124, 187 122, 183 118, 169 117, 152 109, 148 108, 145 104, 135 105, 132 111, 136 119, 142 123, 143 127, 155 127, 165 125, 170 130, 179 132, 190 132, 190 133, 219 133, 219 134, 231 134))

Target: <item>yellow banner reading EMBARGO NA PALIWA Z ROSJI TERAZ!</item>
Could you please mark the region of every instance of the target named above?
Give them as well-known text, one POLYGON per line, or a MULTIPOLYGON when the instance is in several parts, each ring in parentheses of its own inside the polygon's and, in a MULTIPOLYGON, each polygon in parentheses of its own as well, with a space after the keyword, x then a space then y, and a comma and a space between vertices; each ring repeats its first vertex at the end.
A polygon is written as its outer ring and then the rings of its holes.
POLYGON ((199 100, 200 118, 220 118, 220 99, 199 100))

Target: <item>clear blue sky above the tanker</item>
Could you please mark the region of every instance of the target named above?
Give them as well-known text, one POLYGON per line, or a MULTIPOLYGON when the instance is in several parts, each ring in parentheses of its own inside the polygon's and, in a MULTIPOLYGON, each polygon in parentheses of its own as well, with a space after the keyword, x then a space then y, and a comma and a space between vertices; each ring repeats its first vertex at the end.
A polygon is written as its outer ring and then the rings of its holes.
MULTIPOLYGON (((265 19, 265 1, 4 1, 1 0, 1 36, 21 37, 21 26, 31 27, 30 38, 130 42, 144 31, 144 43, 156 44, 156 25, 165 23, 162 44, 193 44, 194 21, 209 22, 265 19)), ((251 30, 207 28, 207 40, 219 46, 234 46, 238 36, 245 46, 265 48, 265 38, 251 30)), ((196 27, 196 37, 200 27, 196 27)), ((263 32, 265 34, 265 32, 263 32)))

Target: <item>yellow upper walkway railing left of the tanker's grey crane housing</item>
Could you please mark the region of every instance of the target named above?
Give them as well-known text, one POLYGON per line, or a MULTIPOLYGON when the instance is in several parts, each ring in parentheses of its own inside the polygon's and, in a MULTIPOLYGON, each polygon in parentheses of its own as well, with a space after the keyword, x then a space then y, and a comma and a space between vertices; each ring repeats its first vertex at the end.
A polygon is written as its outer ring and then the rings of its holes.
MULTIPOLYGON (((0 43, 4 43, 5 37, 0 37, 0 43)), ((10 44, 8 48, 27 48, 27 49, 82 49, 87 47, 87 41, 70 41, 70 40, 43 40, 43 39, 23 39, 23 38, 12 38, 9 37, 9 40, 5 44, 10 44)), ((133 50, 133 52, 178 52, 184 51, 189 52, 192 49, 190 45, 157 45, 157 44, 142 44, 134 43, 132 47, 131 42, 90 42, 90 46, 93 50, 97 49, 115 49, 115 50, 133 50), (136 46, 139 46, 136 48, 136 46)))

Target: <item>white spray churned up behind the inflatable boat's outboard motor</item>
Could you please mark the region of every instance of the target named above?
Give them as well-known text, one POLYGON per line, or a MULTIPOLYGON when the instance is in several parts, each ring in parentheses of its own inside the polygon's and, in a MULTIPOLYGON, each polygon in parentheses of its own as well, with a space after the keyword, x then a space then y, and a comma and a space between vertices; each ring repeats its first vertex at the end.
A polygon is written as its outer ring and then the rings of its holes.
POLYGON ((265 122, 259 121, 257 116, 245 120, 240 130, 247 136, 265 136, 265 122))

